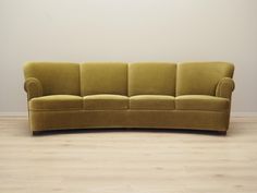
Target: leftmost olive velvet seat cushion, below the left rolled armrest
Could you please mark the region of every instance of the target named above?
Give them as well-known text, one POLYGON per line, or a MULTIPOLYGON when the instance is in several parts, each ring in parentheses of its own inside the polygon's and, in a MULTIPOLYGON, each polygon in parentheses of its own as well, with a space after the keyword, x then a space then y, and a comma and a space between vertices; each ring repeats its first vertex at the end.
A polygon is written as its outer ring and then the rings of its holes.
POLYGON ((49 95, 29 100, 29 110, 82 110, 83 98, 75 95, 49 95))

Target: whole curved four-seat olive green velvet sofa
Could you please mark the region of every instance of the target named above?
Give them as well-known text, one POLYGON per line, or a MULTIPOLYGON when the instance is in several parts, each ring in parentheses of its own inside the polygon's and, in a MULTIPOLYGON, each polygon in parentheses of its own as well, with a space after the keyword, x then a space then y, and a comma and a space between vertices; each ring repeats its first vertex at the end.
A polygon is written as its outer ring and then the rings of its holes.
POLYGON ((227 62, 24 65, 29 126, 229 129, 234 65, 227 62))

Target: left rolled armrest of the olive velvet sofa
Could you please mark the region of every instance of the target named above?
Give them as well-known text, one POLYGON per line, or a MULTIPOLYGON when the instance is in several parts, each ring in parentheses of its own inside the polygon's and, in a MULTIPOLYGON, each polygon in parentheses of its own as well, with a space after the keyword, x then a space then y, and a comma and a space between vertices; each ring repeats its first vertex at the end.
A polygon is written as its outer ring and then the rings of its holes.
POLYGON ((24 89, 27 92, 27 100, 42 96, 42 86, 40 81, 35 77, 26 79, 24 89))

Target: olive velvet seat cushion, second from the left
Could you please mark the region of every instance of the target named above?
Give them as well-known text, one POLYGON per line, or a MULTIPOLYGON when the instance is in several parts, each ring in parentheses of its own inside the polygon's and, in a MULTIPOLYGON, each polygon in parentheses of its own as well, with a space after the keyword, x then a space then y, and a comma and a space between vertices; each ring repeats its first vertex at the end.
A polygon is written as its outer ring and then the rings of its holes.
POLYGON ((128 108, 128 97, 122 95, 88 95, 83 100, 86 110, 122 110, 128 108))

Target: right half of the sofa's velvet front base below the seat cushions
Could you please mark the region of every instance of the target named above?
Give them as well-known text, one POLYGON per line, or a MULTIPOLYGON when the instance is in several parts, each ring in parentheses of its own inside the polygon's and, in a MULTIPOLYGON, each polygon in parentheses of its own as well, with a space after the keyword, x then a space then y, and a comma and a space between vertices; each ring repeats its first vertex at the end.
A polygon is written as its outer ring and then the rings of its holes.
POLYGON ((197 129, 227 131, 228 111, 205 110, 131 110, 131 128, 197 129))

